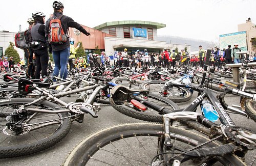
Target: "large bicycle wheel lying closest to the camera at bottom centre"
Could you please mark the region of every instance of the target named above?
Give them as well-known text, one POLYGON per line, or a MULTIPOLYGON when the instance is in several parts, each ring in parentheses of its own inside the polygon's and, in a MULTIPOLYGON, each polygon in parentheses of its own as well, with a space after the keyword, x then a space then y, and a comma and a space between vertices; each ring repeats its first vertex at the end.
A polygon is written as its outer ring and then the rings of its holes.
MULTIPOLYGON (((194 130, 193 130, 194 131, 194 130)), ((170 127, 173 147, 166 154, 168 158, 176 157, 174 153, 184 153, 208 139, 201 134, 170 127)), ((82 140, 70 154, 63 165, 165 165, 162 152, 164 142, 164 125, 149 123, 121 124, 98 131, 82 140), (152 159, 158 160, 152 163, 152 159)), ((204 147, 216 147, 209 143, 204 147)), ((229 155, 217 157, 227 165, 243 165, 239 158, 229 155)), ((186 161, 182 165, 200 165, 203 159, 186 161)), ((220 163, 219 163, 220 164, 220 163)), ((172 164, 170 164, 172 165, 172 164)), ((218 165, 218 163, 217 163, 218 165)))

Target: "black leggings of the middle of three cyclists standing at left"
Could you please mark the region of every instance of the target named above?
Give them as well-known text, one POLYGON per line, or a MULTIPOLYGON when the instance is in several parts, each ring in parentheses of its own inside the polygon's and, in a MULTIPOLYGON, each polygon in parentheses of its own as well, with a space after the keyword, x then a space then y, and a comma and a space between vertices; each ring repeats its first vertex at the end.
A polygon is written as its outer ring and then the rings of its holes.
POLYGON ((34 50, 36 56, 36 70, 35 70, 35 79, 40 79, 40 72, 42 78, 47 76, 47 68, 49 61, 49 54, 47 49, 38 49, 34 50))

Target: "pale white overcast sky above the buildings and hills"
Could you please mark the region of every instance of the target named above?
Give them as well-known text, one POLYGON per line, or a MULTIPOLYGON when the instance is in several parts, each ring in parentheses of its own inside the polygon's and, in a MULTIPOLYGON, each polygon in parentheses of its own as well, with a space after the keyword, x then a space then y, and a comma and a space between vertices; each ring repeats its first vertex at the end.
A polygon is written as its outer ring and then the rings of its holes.
MULTIPOLYGON (((47 18, 53 13, 52 0, 1 1, 0 31, 17 32, 28 27, 31 13, 47 18)), ((238 32, 237 25, 248 17, 256 23, 255 0, 60 0, 63 14, 76 22, 95 27, 104 22, 143 20, 166 24, 158 35, 218 41, 219 35, 238 32), (254 10, 252 10, 254 9, 254 10), (254 17, 253 17, 254 16, 254 17)))

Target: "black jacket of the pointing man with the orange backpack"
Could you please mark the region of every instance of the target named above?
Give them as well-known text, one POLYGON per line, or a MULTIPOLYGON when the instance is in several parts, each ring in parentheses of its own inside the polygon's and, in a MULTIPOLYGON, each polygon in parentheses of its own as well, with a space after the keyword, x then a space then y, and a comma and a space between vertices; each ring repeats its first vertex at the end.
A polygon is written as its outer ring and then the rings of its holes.
MULTIPOLYGON (((60 17, 61 15, 62 13, 58 11, 55 11, 53 13, 53 17, 60 17)), ((87 33, 87 31, 84 30, 79 23, 75 22, 72 18, 68 16, 63 15, 60 21, 61 21, 62 29, 65 34, 67 34, 69 27, 75 27, 77 30, 79 30, 83 34, 87 33)), ((49 44, 48 42, 49 26, 50 26, 50 18, 46 21, 46 39, 48 44, 49 44)), ((50 49, 52 48, 53 51, 63 50, 68 48, 69 46, 70 46, 69 39, 63 44, 49 44, 50 49)))

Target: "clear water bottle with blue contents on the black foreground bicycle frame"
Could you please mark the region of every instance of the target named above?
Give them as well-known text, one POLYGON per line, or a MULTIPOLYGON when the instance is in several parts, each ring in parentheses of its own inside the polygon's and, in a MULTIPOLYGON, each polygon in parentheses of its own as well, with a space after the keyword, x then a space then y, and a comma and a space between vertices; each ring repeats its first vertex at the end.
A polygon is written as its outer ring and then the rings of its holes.
POLYGON ((219 114, 215 110, 214 106, 208 100, 202 101, 201 110, 205 118, 210 120, 211 122, 216 122, 219 119, 219 114))

